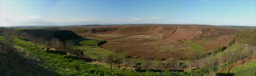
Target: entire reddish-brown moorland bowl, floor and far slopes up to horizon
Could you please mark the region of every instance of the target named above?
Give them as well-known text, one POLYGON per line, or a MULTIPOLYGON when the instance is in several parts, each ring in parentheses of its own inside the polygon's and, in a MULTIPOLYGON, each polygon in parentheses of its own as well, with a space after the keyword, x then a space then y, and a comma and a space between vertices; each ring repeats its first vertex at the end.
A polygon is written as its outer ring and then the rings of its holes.
POLYGON ((188 55, 192 49, 202 49, 207 52, 215 50, 219 46, 225 47, 231 41, 232 36, 239 32, 238 29, 211 25, 160 24, 83 26, 60 29, 83 31, 77 32, 77 34, 108 41, 101 46, 104 49, 113 50, 114 47, 120 46, 130 56, 149 56, 150 59, 156 57, 178 58, 188 55), (108 30, 111 28, 112 30, 108 30), (93 32, 91 30, 102 31, 93 32), (194 44, 197 46, 195 47, 194 44), (197 49, 197 47, 203 48, 197 49))

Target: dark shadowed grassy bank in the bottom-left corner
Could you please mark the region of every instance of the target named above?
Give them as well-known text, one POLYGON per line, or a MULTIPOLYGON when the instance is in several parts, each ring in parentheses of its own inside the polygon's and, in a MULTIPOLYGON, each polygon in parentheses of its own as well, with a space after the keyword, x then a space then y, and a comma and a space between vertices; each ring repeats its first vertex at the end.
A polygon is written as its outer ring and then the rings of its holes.
POLYGON ((30 54, 19 52, 16 49, 12 49, 12 53, 6 53, 4 51, 10 51, 10 49, 3 49, 2 47, 0 48, 1 75, 58 75, 57 72, 52 71, 55 70, 55 68, 45 68, 40 66, 40 61, 27 57, 31 56, 30 54))

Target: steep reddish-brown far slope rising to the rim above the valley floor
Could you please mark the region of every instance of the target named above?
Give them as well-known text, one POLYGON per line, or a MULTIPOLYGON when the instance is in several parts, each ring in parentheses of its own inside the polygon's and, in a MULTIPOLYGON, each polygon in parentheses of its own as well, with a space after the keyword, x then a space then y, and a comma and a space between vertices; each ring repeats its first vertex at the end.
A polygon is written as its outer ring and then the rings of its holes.
POLYGON ((144 36, 160 37, 163 41, 194 41, 209 51, 218 46, 226 46, 237 32, 238 29, 209 25, 148 25, 126 26, 111 34, 130 36, 146 34, 144 36))

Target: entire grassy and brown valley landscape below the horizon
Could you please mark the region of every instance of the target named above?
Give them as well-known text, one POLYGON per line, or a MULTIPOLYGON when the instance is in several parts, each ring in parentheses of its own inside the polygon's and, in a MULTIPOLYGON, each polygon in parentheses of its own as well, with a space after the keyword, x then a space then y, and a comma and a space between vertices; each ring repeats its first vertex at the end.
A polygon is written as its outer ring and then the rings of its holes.
POLYGON ((141 24, 0 33, 3 75, 255 75, 249 29, 141 24))

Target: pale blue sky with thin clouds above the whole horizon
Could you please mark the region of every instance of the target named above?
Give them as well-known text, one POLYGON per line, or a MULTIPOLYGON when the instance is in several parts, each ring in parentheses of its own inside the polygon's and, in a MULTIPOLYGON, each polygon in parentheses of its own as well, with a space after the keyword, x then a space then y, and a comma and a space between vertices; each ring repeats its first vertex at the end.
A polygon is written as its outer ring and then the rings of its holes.
POLYGON ((5 1, 1 26, 207 24, 256 26, 256 1, 5 1))

